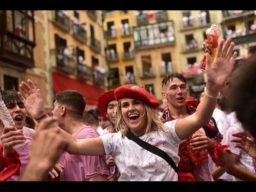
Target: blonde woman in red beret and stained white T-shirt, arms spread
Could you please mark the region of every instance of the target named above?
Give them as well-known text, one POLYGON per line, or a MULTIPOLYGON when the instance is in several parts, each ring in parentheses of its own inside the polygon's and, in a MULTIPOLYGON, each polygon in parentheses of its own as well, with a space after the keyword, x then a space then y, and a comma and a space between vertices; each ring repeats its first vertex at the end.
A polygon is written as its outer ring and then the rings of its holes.
POLYGON ((141 140, 164 150, 177 165, 180 160, 179 143, 212 117, 220 88, 236 58, 236 52, 232 55, 233 48, 230 38, 225 45, 222 39, 212 64, 210 55, 206 54, 206 96, 194 114, 162 124, 155 111, 159 102, 152 95, 137 85, 120 86, 115 90, 118 104, 114 118, 118 132, 84 140, 76 140, 63 132, 69 140, 67 152, 79 155, 111 154, 120 171, 120 181, 178 181, 178 175, 164 159, 129 140, 126 132, 130 130, 141 140))

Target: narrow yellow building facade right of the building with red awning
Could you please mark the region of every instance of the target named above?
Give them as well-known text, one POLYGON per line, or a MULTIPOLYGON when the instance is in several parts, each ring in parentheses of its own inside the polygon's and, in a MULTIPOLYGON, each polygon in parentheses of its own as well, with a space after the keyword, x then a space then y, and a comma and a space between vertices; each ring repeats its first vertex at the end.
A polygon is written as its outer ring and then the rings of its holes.
POLYGON ((114 90, 123 84, 138 83, 134 60, 132 12, 129 10, 105 11, 103 24, 108 42, 109 90, 114 90))

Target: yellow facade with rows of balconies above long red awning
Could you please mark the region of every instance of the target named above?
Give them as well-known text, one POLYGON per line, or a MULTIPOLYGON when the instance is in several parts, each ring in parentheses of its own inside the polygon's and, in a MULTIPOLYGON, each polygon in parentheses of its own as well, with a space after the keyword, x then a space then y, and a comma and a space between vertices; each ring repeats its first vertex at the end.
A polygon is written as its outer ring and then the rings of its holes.
POLYGON ((74 89, 86 98, 86 111, 97 107, 105 87, 105 42, 102 12, 47 11, 54 95, 74 89))

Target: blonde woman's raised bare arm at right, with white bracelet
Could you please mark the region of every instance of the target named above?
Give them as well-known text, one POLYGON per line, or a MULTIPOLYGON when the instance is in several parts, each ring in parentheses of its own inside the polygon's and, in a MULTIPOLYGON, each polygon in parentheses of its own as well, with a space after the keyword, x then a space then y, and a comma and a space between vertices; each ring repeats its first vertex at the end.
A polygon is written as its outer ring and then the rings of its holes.
POLYGON ((208 124, 216 107, 220 88, 231 73, 237 53, 234 52, 234 43, 228 38, 220 40, 214 62, 206 53, 206 95, 198 105, 196 112, 176 123, 176 133, 180 139, 188 138, 196 130, 208 124))

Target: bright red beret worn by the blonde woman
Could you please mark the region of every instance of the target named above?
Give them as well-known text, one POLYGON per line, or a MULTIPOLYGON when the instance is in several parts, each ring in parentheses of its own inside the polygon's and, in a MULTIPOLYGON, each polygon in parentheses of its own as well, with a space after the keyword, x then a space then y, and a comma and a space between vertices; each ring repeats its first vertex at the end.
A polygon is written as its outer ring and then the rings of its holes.
POLYGON ((126 84, 118 87, 115 90, 116 100, 119 100, 122 97, 134 98, 144 102, 147 102, 154 109, 160 106, 160 103, 156 98, 154 98, 149 92, 147 92, 143 87, 138 85, 126 84))

